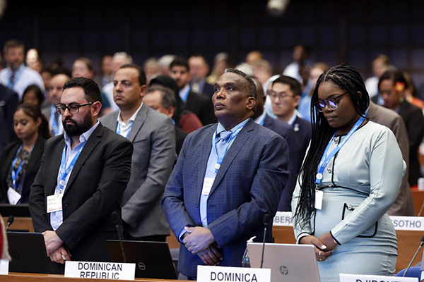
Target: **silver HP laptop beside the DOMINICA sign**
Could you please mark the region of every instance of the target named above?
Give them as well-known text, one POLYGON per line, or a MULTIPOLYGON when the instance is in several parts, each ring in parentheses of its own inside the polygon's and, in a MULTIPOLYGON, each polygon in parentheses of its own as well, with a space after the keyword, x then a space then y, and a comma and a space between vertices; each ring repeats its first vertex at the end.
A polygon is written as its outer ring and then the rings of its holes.
MULTIPOLYGON (((250 267, 261 267, 262 243, 247 243, 250 267)), ((319 282, 314 246, 265 243, 264 269, 271 282, 319 282)))

